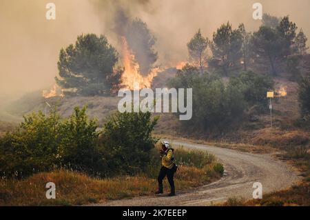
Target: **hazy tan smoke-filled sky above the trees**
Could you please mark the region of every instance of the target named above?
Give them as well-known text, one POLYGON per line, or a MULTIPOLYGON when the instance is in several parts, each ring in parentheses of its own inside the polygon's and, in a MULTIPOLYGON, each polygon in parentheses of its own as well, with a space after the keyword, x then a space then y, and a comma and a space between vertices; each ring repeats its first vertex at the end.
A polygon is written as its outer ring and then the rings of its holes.
POLYGON ((310 0, 0 0, 0 97, 52 86, 59 50, 79 34, 105 34, 118 48, 118 10, 147 23, 157 38, 158 63, 169 66, 187 59, 186 43, 198 28, 209 38, 227 21, 256 30, 255 2, 277 17, 289 14, 310 36, 310 0), (54 21, 45 19, 49 2, 56 4, 54 21))

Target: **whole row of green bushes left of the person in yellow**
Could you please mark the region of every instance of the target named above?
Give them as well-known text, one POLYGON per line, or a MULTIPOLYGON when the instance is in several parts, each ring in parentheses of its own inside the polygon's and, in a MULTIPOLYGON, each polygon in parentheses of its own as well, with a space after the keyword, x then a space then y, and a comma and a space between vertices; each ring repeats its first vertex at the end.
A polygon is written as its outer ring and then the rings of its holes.
POLYGON ((25 117, 19 130, 0 138, 0 177, 27 177, 54 168, 92 175, 134 174, 145 169, 156 139, 157 119, 147 113, 119 113, 98 131, 86 108, 68 119, 56 110, 25 117))

